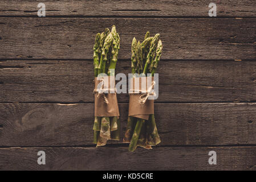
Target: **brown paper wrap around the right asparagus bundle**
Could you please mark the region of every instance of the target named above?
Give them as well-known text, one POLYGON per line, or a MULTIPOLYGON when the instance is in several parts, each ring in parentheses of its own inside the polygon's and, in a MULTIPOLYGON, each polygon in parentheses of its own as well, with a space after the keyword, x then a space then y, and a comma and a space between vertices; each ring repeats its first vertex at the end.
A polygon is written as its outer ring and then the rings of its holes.
POLYGON ((141 96, 149 90, 151 82, 154 77, 135 77, 130 84, 130 88, 133 92, 139 91, 140 93, 129 94, 129 116, 148 120, 150 114, 154 114, 154 100, 147 100, 145 104, 141 104, 141 96), (149 80, 152 79, 152 80, 149 80), (135 88, 135 82, 139 82, 139 88, 135 88))

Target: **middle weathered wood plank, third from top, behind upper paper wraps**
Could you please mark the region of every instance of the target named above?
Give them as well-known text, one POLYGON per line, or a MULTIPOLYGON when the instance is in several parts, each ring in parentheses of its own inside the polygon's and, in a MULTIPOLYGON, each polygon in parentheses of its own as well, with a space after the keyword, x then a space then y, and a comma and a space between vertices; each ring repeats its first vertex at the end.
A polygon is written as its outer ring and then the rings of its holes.
MULTIPOLYGON (((117 62, 131 72, 131 61, 117 62)), ((254 102, 256 61, 160 61, 156 102, 254 102)), ((2 61, 0 102, 94 102, 92 61, 2 61)), ((128 102, 128 94, 118 94, 128 102)))

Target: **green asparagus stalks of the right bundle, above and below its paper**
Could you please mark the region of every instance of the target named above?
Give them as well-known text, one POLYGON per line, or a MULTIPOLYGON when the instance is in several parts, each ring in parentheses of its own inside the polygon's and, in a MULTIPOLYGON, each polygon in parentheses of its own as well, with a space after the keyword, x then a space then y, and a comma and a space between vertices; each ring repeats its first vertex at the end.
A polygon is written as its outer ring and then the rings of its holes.
MULTIPOLYGON (((154 76, 162 53, 162 42, 159 36, 156 34, 150 37, 147 32, 142 44, 133 38, 131 57, 133 76, 136 76, 135 73, 143 73, 144 76, 151 73, 151 76, 154 76)), ((149 115, 148 120, 129 116, 123 142, 130 143, 129 151, 135 151, 137 146, 151 149, 152 146, 159 144, 160 137, 156 128, 155 115, 149 115)))

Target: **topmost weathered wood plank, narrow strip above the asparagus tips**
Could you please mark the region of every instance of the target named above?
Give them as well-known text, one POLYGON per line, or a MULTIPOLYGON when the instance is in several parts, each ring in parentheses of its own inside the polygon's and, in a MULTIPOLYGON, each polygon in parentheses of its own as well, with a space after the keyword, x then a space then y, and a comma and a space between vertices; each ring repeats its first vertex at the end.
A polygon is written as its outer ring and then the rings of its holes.
MULTIPOLYGON (((208 16, 212 1, 17 1, 2 0, 0 15, 37 15, 38 3, 46 5, 46 16, 208 16)), ((218 1, 217 16, 255 16, 253 0, 218 1)))

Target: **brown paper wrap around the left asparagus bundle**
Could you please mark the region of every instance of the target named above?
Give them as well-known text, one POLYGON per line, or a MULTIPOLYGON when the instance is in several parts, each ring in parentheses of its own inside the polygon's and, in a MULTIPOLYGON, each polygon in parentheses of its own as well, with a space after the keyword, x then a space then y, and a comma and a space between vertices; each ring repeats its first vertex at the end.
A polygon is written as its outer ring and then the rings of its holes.
MULTIPOLYGON (((115 89, 115 77, 108 76, 108 77, 102 77, 102 79, 104 79, 104 89, 105 88, 112 89, 112 90, 115 89), (108 84, 105 84, 107 79, 108 79, 108 84), (114 82, 113 85, 110 84, 110 80, 113 80, 113 82, 114 82), (113 88, 111 88, 111 86, 113 88)), ((119 114, 118 102, 117 102, 117 98, 116 98, 116 92, 110 93, 110 90, 108 91, 108 93, 98 93, 97 92, 97 85, 102 81, 102 79, 97 80, 97 77, 95 77, 95 79, 94 79, 94 83, 95 83, 94 114, 95 114, 95 117, 113 117, 113 116, 119 117, 120 114, 119 114), (105 99, 107 99, 108 103, 105 101, 105 99)))

